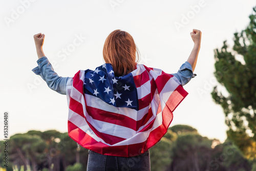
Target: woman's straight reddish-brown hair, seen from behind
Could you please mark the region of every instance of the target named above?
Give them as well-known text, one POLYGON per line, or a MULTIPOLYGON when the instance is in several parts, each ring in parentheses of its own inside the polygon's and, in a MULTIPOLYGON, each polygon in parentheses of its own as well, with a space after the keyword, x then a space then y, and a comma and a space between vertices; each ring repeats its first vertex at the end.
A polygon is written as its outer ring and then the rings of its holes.
POLYGON ((105 40, 103 58, 111 63, 115 76, 122 76, 135 69, 136 52, 138 54, 133 37, 125 31, 115 30, 105 40))

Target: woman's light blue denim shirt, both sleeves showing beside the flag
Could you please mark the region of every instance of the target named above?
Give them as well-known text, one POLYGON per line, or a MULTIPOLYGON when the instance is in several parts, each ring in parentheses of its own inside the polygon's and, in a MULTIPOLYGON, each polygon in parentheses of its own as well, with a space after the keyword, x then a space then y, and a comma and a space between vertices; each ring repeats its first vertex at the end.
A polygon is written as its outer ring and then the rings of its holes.
MULTIPOLYGON (((38 66, 32 71, 36 75, 40 75, 48 85, 48 87, 60 94, 66 95, 66 84, 71 77, 60 77, 56 72, 54 72, 50 61, 46 56, 41 57, 37 61, 38 66)), ((184 86, 191 78, 194 78, 196 74, 193 74, 192 67, 189 62, 185 62, 181 65, 177 73, 172 74, 175 76, 184 86)))

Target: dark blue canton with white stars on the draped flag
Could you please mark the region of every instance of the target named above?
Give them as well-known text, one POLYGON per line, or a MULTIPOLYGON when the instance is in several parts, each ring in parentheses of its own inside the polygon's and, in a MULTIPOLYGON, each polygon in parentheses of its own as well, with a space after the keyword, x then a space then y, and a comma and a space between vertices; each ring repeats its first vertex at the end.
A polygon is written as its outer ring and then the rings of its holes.
POLYGON ((138 110, 138 95, 132 73, 115 77, 110 63, 104 63, 94 71, 85 71, 83 91, 116 107, 138 110))

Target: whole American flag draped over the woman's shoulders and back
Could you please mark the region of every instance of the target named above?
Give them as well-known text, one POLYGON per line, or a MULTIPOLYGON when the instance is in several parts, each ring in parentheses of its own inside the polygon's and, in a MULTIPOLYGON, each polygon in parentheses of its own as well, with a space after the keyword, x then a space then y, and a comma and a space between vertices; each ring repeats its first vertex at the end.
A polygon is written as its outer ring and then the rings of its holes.
POLYGON ((115 77, 110 63, 78 71, 66 92, 69 136, 94 152, 122 157, 143 154, 159 142, 188 94, 162 70, 137 64, 115 77))

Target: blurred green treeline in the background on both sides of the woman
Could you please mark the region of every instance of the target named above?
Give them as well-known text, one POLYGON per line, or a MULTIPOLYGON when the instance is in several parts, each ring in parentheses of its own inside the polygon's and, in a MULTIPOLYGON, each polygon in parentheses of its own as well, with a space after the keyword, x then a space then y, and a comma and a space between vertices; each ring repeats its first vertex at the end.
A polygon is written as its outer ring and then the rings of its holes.
MULTIPOLYGON (((212 147, 207 137, 187 125, 175 125, 168 129, 161 141, 150 149, 152 171, 164 170, 255 170, 255 164, 245 159, 240 149, 231 142, 217 143, 212 147)), ((0 148, 3 149, 3 141, 0 148)), ((1 164, 3 154, 0 153, 1 164)), ((77 148, 68 133, 51 130, 29 131, 16 134, 9 140, 7 170, 84 170, 87 168, 88 150, 77 148), (47 136, 46 136, 47 135, 47 136), (82 161, 82 162, 80 162, 82 161), (10 167, 9 167, 10 166, 10 167)), ((1 165, 0 168, 4 166, 1 165)))

